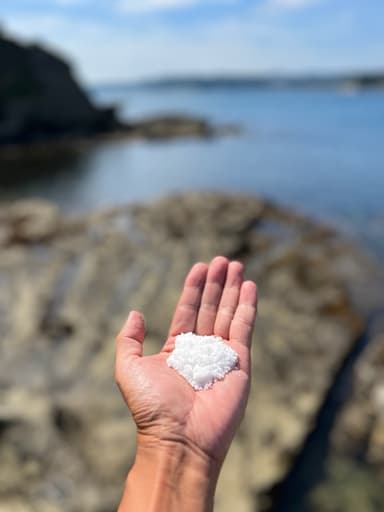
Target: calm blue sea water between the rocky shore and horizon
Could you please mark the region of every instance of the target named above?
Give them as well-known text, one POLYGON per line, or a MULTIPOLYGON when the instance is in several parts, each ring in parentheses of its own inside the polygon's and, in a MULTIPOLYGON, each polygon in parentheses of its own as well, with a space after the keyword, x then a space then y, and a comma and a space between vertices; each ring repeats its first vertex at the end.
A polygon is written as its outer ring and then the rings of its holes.
POLYGON ((100 142, 75 159, 50 161, 48 177, 0 197, 40 196, 89 210, 185 190, 238 191, 325 220, 384 255, 383 91, 130 86, 92 95, 117 104, 122 118, 177 112, 242 131, 209 140, 100 142))

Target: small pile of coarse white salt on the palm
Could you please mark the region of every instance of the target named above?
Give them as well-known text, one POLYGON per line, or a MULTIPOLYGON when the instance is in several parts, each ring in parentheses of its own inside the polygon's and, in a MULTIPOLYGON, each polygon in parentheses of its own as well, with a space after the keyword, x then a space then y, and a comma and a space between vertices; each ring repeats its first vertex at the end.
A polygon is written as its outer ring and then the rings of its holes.
POLYGON ((167 359, 196 390, 209 389, 237 366, 237 353, 218 336, 192 332, 176 336, 175 348, 167 359))

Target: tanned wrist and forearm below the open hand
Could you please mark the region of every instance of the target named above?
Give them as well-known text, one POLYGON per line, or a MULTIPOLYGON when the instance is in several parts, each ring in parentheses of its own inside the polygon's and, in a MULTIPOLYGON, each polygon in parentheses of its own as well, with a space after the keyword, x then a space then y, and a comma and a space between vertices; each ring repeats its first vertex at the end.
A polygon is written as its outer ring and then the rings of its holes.
POLYGON ((211 512, 219 470, 183 443, 139 438, 118 512, 211 512))

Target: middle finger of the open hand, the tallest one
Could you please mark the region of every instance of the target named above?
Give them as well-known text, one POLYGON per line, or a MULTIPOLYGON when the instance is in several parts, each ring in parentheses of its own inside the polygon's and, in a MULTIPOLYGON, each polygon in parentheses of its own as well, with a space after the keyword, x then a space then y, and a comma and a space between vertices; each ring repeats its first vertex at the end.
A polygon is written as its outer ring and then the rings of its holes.
POLYGON ((209 265, 207 282, 205 283, 197 317, 197 334, 213 334, 217 309, 223 293, 227 270, 228 260, 223 256, 217 256, 209 265))

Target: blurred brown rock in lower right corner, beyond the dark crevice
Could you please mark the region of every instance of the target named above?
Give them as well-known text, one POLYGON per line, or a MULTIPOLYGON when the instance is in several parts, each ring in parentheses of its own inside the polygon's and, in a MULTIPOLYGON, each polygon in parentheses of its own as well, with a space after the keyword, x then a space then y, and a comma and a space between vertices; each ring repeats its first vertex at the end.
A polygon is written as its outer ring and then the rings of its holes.
POLYGON ((352 392, 334 426, 323 481, 310 497, 314 512, 384 509, 384 322, 375 316, 353 372, 352 392))

